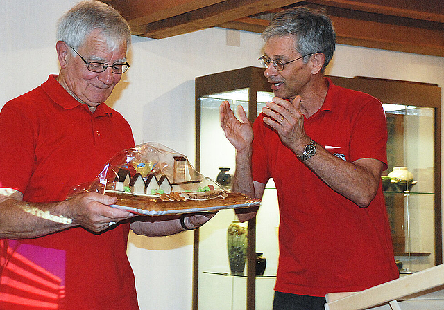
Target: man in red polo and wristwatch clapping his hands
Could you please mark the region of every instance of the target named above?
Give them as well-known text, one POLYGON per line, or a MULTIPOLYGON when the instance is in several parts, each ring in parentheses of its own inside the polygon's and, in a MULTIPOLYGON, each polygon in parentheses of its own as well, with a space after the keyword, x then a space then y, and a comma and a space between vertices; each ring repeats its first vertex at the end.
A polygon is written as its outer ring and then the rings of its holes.
MULTIPOLYGON (((237 149, 233 190, 278 190, 279 264, 274 310, 321 310, 325 295, 361 291, 398 277, 381 173, 387 168, 382 104, 332 84, 324 70, 336 35, 323 12, 284 10, 262 33, 259 60, 275 97, 253 127, 221 104, 237 149)), ((237 210, 241 221, 256 210, 237 210)))

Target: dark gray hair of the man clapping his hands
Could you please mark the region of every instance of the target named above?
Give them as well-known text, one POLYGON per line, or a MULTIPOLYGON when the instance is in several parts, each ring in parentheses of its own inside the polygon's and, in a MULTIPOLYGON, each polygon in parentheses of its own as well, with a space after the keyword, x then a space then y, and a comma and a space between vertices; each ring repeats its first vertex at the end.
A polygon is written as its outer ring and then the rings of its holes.
MULTIPOLYGON (((332 60, 336 44, 332 20, 322 10, 306 7, 291 8, 276 13, 265 28, 262 38, 266 42, 271 37, 296 36, 295 49, 300 55, 323 53, 325 55, 322 72, 332 60)), ((309 57, 305 57, 307 63, 309 57)))

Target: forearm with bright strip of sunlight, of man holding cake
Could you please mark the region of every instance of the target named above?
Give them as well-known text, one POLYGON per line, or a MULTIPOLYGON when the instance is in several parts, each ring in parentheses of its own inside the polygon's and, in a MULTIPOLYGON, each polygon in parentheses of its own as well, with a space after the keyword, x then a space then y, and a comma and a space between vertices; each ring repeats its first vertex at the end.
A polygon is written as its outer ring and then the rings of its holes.
POLYGON ((26 239, 75 226, 62 203, 28 203, 0 199, 0 239, 26 239))

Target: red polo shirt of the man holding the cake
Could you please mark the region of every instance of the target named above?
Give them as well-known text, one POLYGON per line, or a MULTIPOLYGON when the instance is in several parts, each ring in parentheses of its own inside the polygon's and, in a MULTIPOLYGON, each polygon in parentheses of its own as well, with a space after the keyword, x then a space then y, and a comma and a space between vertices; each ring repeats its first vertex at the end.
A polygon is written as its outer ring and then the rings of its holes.
MULTIPOLYGON (((0 113, 0 188, 19 190, 24 201, 62 201, 133 146, 121 114, 105 104, 91 113, 51 75, 0 113)), ((101 234, 71 228, 0 240, 0 308, 138 309, 128 232, 122 224, 101 234)))

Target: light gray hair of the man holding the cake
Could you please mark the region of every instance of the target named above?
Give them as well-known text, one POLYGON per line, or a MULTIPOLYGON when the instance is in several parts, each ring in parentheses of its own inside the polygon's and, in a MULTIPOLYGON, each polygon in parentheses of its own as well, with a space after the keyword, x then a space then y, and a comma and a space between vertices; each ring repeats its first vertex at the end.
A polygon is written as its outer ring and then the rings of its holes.
POLYGON ((111 6, 96 0, 82 1, 65 12, 58 21, 57 39, 78 48, 96 29, 101 30, 112 50, 122 42, 126 42, 127 48, 131 44, 130 26, 123 16, 111 6))

